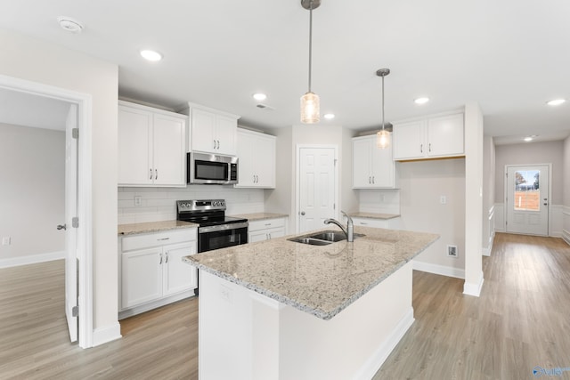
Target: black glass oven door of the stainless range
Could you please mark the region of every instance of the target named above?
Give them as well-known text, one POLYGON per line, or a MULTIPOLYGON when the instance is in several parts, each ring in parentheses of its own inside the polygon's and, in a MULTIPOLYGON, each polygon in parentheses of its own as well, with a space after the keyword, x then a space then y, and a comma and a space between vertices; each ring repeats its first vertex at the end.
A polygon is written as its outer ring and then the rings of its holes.
POLYGON ((220 224, 198 229, 198 252, 239 246, 248 242, 248 222, 220 224))

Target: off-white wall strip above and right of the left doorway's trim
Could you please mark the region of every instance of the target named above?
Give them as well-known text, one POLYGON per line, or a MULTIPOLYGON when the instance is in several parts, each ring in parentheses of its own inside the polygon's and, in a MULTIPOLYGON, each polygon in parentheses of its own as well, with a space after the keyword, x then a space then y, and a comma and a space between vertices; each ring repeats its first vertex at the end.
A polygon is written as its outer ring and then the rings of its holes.
POLYGON ((0 29, 0 73, 90 94, 94 250, 94 329, 118 326, 118 66, 0 29))

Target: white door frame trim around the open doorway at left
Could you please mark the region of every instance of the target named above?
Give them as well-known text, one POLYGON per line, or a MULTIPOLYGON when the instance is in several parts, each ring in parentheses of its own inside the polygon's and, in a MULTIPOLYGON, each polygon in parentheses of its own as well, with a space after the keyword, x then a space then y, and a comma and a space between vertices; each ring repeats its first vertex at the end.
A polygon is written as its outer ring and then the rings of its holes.
POLYGON ((0 75, 0 87, 77 104, 79 130, 77 157, 77 256, 79 262, 78 344, 81 348, 93 346, 93 205, 92 205, 92 109, 93 99, 88 93, 78 93, 53 85, 0 75))

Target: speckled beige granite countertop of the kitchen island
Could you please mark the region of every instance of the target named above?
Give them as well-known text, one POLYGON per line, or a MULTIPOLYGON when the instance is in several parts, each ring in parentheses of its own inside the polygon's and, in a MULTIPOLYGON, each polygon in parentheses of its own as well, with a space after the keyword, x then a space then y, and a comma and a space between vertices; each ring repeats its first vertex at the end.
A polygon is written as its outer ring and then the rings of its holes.
POLYGON ((331 319, 439 239, 436 234, 405 230, 354 227, 354 231, 365 236, 328 246, 277 238, 183 260, 280 303, 331 319))

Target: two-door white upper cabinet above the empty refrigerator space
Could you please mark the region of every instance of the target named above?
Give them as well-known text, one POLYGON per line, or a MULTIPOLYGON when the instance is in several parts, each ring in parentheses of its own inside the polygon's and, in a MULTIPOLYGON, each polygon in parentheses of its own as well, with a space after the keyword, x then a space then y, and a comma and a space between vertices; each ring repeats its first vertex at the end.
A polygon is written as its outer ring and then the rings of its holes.
POLYGON ((456 157, 464 154, 463 113, 395 123, 394 159, 456 157))

